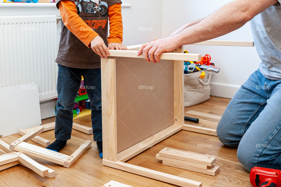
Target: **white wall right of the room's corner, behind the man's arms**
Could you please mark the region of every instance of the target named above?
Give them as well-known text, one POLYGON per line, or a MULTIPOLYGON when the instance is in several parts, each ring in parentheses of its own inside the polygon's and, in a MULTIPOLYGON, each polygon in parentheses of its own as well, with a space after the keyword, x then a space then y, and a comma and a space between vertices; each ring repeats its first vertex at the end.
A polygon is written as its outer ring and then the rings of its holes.
MULTIPOLYGON (((162 36, 169 36, 174 30, 189 21, 208 16, 231 0, 163 0, 163 29, 162 36), (174 10, 174 11, 171 11, 174 10)), ((227 15, 226 15, 227 16, 227 15)), ((250 25, 215 40, 242 40, 253 41, 250 25)), ((231 98, 247 78, 258 69, 261 60, 255 47, 226 47, 188 45, 184 47, 190 53, 210 54, 212 62, 221 68, 218 74, 213 73, 211 95, 231 98)))

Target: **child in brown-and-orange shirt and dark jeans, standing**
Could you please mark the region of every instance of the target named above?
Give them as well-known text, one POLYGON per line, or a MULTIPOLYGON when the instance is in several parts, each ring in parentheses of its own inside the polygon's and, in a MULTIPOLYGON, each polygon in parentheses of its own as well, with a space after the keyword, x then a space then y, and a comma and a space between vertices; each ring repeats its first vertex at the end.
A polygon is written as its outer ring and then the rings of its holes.
POLYGON ((56 140, 47 149, 59 152, 71 138, 75 97, 84 77, 91 104, 94 141, 102 157, 102 102, 100 58, 109 49, 126 50, 122 45, 121 0, 58 0, 61 14, 61 39, 58 63, 56 140), (109 20, 110 35, 107 38, 109 20))

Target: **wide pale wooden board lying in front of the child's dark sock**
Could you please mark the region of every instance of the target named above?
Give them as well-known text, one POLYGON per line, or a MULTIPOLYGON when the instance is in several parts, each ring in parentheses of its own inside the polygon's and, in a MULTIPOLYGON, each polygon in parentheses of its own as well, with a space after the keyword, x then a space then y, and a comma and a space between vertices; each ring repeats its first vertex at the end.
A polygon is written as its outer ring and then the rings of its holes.
POLYGON ((59 152, 55 152, 43 147, 39 147, 36 145, 32 145, 29 143, 22 142, 15 147, 15 150, 18 152, 22 152, 24 154, 28 154, 37 158, 45 159, 50 162, 54 162, 57 164, 64 165, 64 161, 68 159, 68 155, 64 155, 59 152))

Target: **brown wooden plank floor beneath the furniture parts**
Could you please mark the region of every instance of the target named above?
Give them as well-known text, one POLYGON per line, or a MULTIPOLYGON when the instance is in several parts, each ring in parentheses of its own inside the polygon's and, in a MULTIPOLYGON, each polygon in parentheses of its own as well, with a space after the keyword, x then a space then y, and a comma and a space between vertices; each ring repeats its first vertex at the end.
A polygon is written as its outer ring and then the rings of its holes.
MULTIPOLYGON (((209 114, 222 115, 229 99, 220 97, 211 97, 209 101, 192 107, 186 107, 185 111, 195 110, 209 114)), ((186 114, 185 114, 186 115, 186 114)), ((188 116, 188 115, 186 115, 188 116)), ((203 119, 203 118, 201 118, 203 119)), ((42 120, 42 124, 53 122, 55 119, 49 118, 42 120)), ((207 119, 211 121, 211 119, 207 119)), ((91 126, 89 116, 84 116, 73 120, 75 123, 91 126)), ((217 122, 214 120, 214 122, 217 122)), ((187 123, 187 122, 186 122, 187 123)), ((40 134, 53 142, 55 140, 54 130, 46 131, 40 134)), ((11 143, 20 138, 18 134, 1 138, 1 140, 11 143)), ((92 140, 92 134, 88 135, 80 131, 73 130, 71 140, 68 140, 66 147, 61 153, 71 155, 80 144, 85 140, 92 140)), ((41 145, 33 142, 28 143, 41 145)), ((221 187, 221 186, 246 186, 250 187, 249 172, 239 163, 236 148, 224 146, 216 136, 205 135, 201 133, 179 131, 171 137, 163 140, 154 147, 131 158, 127 162, 138 166, 166 172, 168 174, 185 177, 187 179, 200 181, 203 187, 221 187), (155 155, 165 147, 172 147, 179 150, 198 152, 201 154, 213 155, 217 157, 216 165, 220 166, 220 172, 216 176, 209 176, 193 171, 165 166, 155 155)), ((56 176, 52 179, 40 177, 35 172, 21 165, 11 167, 0 171, 0 186, 93 186, 100 187, 111 180, 118 181, 134 187, 171 187, 161 181, 148 179, 128 172, 109 168, 102 165, 102 159, 98 156, 95 142, 70 168, 65 168, 59 164, 54 164, 42 159, 31 157, 40 164, 54 169, 56 176)))

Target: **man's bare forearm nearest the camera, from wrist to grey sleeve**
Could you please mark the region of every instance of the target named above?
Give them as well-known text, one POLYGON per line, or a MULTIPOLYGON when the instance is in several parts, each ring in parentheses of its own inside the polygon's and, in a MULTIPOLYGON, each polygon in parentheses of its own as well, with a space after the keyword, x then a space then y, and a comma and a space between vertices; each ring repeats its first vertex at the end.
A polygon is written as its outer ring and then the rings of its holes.
POLYGON ((219 8, 197 24, 174 35, 177 46, 192 44, 220 37, 242 27, 258 13, 272 6, 277 0, 236 0, 219 8))

